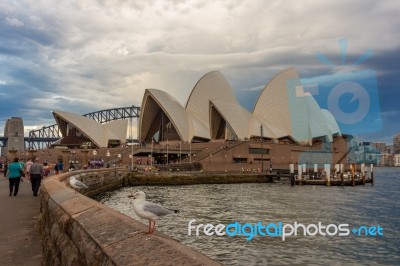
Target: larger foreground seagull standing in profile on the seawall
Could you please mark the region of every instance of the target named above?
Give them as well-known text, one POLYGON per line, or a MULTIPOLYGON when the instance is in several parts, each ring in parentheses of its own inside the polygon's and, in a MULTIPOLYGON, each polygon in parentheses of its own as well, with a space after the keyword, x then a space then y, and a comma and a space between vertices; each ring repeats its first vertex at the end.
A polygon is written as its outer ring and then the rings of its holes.
POLYGON ((179 213, 178 210, 169 210, 159 204, 146 201, 146 194, 143 191, 138 191, 133 195, 129 195, 128 197, 134 199, 133 210, 136 212, 136 214, 140 218, 149 220, 149 231, 147 234, 154 233, 156 219, 168 214, 179 213))

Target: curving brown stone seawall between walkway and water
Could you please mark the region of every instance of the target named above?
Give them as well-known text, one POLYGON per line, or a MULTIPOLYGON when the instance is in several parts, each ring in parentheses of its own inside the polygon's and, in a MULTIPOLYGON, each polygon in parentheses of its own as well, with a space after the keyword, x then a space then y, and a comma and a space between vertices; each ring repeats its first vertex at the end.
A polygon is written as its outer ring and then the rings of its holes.
POLYGON ((125 168, 67 172, 41 188, 42 265, 219 265, 170 237, 68 187, 75 175, 94 195, 126 184, 125 168))

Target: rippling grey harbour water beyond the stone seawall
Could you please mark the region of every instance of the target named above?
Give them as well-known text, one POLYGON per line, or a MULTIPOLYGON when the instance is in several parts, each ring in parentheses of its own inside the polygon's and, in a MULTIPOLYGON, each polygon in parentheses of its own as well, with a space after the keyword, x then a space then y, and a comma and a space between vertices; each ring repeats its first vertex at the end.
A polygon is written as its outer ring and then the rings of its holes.
MULTIPOLYGON (((141 220, 127 196, 137 190, 178 215, 157 221, 157 230, 224 265, 399 265, 400 168, 375 168, 375 184, 357 187, 295 186, 279 183, 140 186, 98 195, 96 199, 141 220), (383 236, 206 236, 188 235, 194 225, 262 222, 305 225, 380 226, 383 236)), ((333 231, 333 230, 332 230, 333 231)), ((300 231, 301 232, 301 231, 300 231)))

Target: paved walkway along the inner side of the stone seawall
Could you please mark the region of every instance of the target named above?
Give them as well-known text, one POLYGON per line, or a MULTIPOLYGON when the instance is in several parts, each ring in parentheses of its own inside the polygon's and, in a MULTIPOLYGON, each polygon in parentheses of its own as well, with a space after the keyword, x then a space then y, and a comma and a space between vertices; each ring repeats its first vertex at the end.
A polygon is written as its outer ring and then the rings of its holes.
POLYGON ((25 178, 16 197, 8 193, 8 180, 0 174, 0 265, 40 265, 39 197, 25 178))

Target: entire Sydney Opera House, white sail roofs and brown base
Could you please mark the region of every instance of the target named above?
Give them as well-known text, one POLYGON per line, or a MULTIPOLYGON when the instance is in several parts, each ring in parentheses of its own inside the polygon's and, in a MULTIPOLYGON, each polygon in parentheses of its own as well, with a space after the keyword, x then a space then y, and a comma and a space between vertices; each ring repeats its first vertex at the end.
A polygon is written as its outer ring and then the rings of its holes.
MULTIPOLYGON (((53 112, 70 148, 112 148, 126 142, 127 121, 105 124, 67 112, 53 112)), ((272 78, 252 110, 243 108, 218 72, 204 75, 185 105, 173 95, 146 89, 138 141, 132 156, 151 164, 201 163, 226 171, 261 168, 264 162, 287 168, 291 162, 346 163, 348 137, 328 110, 304 92, 294 68, 272 78)))

